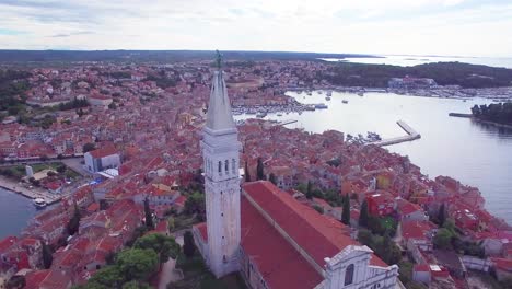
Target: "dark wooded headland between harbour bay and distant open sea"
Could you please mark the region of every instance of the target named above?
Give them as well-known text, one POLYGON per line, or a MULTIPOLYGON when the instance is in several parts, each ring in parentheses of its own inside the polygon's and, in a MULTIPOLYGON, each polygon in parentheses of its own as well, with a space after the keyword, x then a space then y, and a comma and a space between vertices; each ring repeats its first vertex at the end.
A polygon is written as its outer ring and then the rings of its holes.
POLYGON ((498 88, 512 84, 512 69, 476 66, 461 62, 438 62, 414 67, 340 62, 318 72, 336 85, 387 88, 391 78, 430 78, 439 85, 462 88, 498 88))

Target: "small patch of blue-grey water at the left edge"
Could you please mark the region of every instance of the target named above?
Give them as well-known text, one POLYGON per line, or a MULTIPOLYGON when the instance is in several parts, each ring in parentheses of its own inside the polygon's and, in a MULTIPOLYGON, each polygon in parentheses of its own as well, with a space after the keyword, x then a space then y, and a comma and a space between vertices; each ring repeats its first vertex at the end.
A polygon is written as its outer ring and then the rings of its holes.
POLYGON ((0 239, 19 235, 35 213, 32 200, 0 187, 0 239))

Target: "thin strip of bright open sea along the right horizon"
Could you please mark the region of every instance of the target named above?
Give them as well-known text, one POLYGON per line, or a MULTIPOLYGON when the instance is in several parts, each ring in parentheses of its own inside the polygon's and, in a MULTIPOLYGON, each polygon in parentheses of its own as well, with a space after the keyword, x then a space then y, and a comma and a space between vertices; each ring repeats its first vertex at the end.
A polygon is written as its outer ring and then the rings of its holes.
POLYGON ((472 65, 484 65, 492 67, 512 68, 510 57, 447 57, 447 56, 405 56, 405 55, 382 55, 380 58, 356 57, 347 59, 323 58, 326 61, 347 61, 369 65, 392 65, 392 66, 417 66, 431 62, 465 62, 472 65))

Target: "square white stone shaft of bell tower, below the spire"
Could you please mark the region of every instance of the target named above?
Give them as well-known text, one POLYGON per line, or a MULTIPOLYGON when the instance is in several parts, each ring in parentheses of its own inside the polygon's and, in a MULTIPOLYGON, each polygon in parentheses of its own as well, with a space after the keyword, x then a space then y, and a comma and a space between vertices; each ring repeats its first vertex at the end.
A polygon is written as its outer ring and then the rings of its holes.
POLYGON ((205 129, 201 142, 210 269, 217 277, 238 270, 241 240, 240 149, 236 129, 205 129))

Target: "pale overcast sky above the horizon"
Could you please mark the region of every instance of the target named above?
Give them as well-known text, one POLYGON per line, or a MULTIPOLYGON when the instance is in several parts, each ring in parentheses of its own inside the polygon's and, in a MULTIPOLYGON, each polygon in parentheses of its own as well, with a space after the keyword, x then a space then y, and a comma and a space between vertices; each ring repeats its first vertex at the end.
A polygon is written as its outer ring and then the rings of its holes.
POLYGON ((512 57, 512 0, 0 0, 0 49, 512 57))

